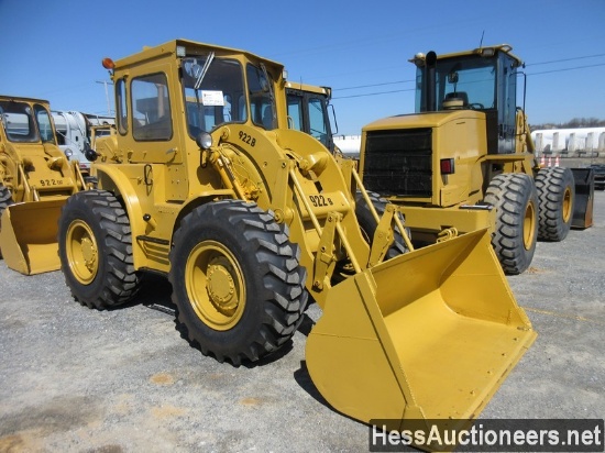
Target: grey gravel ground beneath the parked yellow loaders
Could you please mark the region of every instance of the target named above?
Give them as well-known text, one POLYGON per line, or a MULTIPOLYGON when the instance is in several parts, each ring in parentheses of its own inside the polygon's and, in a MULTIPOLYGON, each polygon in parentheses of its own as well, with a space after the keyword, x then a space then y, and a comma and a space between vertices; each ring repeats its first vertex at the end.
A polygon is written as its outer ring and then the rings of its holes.
MULTIPOLYGON (((601 191, 593 228, 538 243, 508 277, 539 336, 482 418, 605 416, 604 243, 601 191)), ((310 382, 310 322, 277 357, 235 368, 154 309, 169 292, 154 277, 132 305, 89 310, 61 272, 25 277, 0 261, 0 452, 367 451, 367 428, 310 382)))

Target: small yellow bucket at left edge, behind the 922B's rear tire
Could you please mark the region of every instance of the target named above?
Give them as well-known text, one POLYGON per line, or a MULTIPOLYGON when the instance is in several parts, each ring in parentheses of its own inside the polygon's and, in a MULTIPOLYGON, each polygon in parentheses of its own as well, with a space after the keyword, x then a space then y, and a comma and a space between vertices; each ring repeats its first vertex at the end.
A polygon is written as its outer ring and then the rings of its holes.
POLYGON ((65 198, 10 205, 2 213, 0 248, 7 266, 32 275, 61 268, 58 218, 65 198))

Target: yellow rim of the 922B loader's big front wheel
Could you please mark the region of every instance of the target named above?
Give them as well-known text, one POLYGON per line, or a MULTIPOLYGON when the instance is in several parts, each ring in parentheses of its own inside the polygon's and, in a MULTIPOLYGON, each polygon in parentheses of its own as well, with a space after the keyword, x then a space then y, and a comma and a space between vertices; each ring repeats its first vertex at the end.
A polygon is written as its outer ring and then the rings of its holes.
POLYGON ((208 327, 226 331, 238 324, 245 308, 243 274, 233 254, 221 243, 200 242, 185 268, 191 307, 208 327))

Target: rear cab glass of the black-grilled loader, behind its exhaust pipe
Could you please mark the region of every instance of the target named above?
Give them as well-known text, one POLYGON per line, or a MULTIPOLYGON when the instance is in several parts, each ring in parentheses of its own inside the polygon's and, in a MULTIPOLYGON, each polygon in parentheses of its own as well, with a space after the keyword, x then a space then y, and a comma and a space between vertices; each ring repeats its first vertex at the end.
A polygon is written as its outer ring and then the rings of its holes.
MULTIPOLYGON (((469 56, 441 59, 436 68, 437 110, 452 106, 471 109, 496 108, 496 58, 469 56), (459 103, 452 102, 455 100, 459 103)), ((416 111, 424 111, 426 67, 417 70, 416 111)))

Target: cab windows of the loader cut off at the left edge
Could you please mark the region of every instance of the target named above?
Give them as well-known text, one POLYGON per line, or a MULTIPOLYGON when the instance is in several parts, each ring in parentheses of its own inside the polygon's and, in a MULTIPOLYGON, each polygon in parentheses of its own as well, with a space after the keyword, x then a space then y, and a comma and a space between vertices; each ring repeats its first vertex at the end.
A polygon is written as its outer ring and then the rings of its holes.
POLYGON ((51 117, 41 104, 2 100, 0 120, 11 142, 38 143, 42 135, 42 142, 55 143, 51 117))

